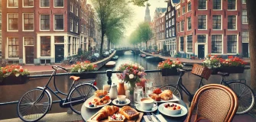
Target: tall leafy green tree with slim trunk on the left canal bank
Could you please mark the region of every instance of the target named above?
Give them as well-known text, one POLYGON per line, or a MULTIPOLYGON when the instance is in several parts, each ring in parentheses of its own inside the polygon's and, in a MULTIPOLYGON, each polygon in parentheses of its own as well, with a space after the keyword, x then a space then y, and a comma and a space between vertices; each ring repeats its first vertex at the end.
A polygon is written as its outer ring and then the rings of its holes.
POLYGON ((102 32, 102 40, 99 55, 102 57, 104 36, 108 30, 119 24, 124 25, 124 21, 131 15, 126 0, 91 0, 93 8, 96 10, 96 19, 102 32))

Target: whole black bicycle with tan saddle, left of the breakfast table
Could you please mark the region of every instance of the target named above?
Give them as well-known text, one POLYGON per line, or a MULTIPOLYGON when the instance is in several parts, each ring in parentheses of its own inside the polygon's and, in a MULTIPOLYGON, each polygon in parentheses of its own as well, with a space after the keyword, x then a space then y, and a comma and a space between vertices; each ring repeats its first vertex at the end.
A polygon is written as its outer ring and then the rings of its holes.
POLYGON ((49 81, 47 85, 44 87, 37 87, 33 90, 25 93, 20 101, 18 101, 17 113, 18 117, 24 121, 37 121, 44 117, 48 111, 50 111, 51 106, 53 104, 53 100, 50 92, 60 99, 60 107, 61 108, 71 108, 73 112, 76 114, 81 114, 81 107, 83 103, 94 95, 94 92, 99 88, 96 87, 95 81, 90 82, 79 82, 79 77, 70 76, 70 79, 73 79, 73 84, 70 87, 68 94, 60 92, 55 84, 55 75, 58 69, 64 69, 61 66, 52 66, 53 73, 50 75, 49 81), (54 87, 57 92, 53 92, 51 88, 48 87, 50 80, 54 75, 54 87), (66 95, 65 99, 60 98, 58 93, 62 95, 66 95))

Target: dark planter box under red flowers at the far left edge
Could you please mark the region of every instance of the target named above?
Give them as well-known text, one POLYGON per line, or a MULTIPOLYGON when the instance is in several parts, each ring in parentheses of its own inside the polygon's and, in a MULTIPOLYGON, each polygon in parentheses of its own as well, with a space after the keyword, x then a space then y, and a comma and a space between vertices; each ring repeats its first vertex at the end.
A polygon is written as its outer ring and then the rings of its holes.
POLYGON ((28 82, 28 75, 9 75, 6 78, 0 80, 0 85, 21 85, 28 82))

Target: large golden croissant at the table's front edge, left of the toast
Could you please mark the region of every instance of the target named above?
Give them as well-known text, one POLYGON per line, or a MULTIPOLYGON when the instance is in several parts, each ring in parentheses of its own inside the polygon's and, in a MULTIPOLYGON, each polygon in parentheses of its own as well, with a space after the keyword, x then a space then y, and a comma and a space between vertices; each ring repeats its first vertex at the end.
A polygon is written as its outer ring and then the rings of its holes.
POLYGON ((105 118, 115 114, 115 112, 119 111, 119 108, 112 105, 106 105, 101 110, 99 110, 98 114, 96 115, 96 120, 104 120, 105 118))

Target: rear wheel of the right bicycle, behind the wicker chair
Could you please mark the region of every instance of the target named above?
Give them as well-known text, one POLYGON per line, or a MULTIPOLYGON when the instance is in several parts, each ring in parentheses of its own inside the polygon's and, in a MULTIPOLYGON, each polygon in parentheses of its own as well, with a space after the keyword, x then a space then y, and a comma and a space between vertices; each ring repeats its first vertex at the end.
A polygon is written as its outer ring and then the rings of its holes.
POLYGON ((227 85, 238 96, 238 111, 236 114, 245 114, 254 106, 254 92, 248 85, 241 82, 230 82, 227 85))

